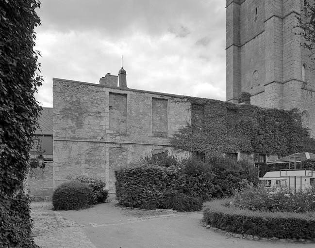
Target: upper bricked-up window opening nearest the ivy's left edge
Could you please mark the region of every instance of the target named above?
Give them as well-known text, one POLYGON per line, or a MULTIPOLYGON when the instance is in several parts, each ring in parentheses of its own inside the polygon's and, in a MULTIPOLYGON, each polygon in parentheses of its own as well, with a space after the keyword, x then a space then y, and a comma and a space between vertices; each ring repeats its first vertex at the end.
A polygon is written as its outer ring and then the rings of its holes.
POLYGON ((152 133, 167 135, 167 99, 152 97, 152 133))

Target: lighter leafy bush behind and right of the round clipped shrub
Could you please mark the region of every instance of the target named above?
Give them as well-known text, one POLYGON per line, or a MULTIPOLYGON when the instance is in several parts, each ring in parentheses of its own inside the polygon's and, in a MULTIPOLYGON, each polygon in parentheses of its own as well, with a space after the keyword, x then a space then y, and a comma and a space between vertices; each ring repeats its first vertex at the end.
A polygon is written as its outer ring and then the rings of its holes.
POLYGON ((77 176, 74 181, 88 184, 93 190, 93 204, 105 202, 108 197, 108 191, 105 189, 106 183, 100 178, 77 176))

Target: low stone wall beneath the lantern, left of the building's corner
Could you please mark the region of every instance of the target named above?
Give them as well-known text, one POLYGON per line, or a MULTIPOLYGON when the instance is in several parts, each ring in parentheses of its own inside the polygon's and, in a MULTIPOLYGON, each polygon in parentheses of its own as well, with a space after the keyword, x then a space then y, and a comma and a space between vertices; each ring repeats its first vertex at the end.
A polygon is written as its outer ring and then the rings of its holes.
POLYGON ((28 175, 28 193, 33 201, 50 201, 53 193, 53 162, 45 162, 45 168, 31 168, 28 175))

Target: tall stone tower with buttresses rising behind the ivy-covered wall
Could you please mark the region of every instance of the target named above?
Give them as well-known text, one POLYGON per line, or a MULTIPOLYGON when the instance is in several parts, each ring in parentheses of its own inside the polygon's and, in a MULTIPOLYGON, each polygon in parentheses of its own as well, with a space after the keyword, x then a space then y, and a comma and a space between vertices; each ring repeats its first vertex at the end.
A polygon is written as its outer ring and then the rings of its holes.
POLYGON ((314 137, 315 64, 295 28, 303 2, 227 0, 227 101, 249 92, 252 105, 298 108, 314 137))

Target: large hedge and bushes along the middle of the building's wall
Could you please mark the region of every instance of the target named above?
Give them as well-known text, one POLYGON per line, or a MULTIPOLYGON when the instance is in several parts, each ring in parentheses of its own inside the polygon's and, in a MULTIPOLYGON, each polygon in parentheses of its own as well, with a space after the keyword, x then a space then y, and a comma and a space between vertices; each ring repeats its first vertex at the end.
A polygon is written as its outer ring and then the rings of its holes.
MULTIPOLYGON (((224 158, 211 158, 209 161, 187 159, 177 162, 178 167, 140 163, 121 168, 115 171, 117 200, 125 206, 165 208, 169 206, 166 204, 168 192, 177 192, 180 198, 186 195, 181 198, 182 202, 189 202, 192 198, 206 201, 231 195, 244 178, 258 183, 257 168, 247 162, 232 162, 224 158)), ((199 205, 198 201, 196 204, 199 205)), ((191 211, 194 211, 196 208, 191 206, 191 211)))

